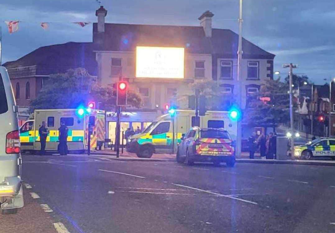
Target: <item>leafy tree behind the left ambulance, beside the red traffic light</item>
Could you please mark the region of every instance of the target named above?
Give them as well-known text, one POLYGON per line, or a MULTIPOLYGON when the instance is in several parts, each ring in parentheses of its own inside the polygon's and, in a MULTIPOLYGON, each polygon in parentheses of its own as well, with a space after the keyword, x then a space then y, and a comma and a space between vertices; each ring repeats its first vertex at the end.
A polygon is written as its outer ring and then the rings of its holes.
MULTIPOLYGON (((80 105, 85 106, 89 101, 101 102, 106 110, 113 110, 116 90, 112 85, 101 86, 85 69, 77 68, 50 75, 37 98, 30 102, 30 110, 77 108, 80 105)), ((139 107, 141 97, 129 90, 128 103, 139 107)))

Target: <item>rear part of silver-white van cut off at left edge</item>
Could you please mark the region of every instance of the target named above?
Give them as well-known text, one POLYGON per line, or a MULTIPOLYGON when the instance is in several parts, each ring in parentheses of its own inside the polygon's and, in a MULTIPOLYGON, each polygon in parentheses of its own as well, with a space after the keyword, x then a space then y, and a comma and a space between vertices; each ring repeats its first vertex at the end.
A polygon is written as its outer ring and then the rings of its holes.
POLYGON ((0 66, 0 210, 16 213, 23 207, 20 134, 12 86, 5 67, 0 66))

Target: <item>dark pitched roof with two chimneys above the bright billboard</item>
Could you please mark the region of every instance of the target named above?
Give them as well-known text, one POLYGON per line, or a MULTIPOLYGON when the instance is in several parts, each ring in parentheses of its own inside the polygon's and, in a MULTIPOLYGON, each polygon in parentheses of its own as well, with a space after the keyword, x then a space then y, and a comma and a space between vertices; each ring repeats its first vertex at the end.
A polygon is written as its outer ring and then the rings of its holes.
MULTIPOLYGON (((202 26, 119 23, 106 23, 105 33, 98 33, 97 23, 93 23, 94 50, 98 51, 133 52, 136 46, 184 47, 186 53, 236 58, 238 37, 229 29, 212 29, 212 37, 206 37, 202 26)), ((273 59, 275 56, 244 38, 242 46, 244 58, 273 59)))

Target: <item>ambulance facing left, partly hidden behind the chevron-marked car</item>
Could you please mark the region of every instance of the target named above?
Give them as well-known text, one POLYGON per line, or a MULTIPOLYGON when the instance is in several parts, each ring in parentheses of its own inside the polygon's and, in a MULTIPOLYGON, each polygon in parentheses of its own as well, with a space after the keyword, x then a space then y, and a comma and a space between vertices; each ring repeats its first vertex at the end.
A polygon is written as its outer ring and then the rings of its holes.
MULTIPOLYGON (((153 153, 175 154, 177 145, 197 121, 194 110, 176 109, 161 115, 142 133, 128 139, 127 151, 140 158, 150 158, 153 153)), ((228 111, 206 111, 200 117, 200 128, 224 128, 232 140, 236 140, 237 122, 229 117, 228 111)))

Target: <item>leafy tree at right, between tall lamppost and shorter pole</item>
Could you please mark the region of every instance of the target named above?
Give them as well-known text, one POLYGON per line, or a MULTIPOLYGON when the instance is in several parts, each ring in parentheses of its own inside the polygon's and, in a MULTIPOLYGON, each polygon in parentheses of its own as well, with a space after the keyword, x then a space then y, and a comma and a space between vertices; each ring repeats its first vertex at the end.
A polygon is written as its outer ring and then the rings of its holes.
POLYGON ((266 80, 260 92, 249 100, 245 120, 250 126, 275 127, 289 121, 289 86, 285 82, 266 80))

